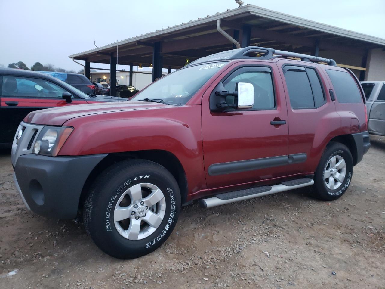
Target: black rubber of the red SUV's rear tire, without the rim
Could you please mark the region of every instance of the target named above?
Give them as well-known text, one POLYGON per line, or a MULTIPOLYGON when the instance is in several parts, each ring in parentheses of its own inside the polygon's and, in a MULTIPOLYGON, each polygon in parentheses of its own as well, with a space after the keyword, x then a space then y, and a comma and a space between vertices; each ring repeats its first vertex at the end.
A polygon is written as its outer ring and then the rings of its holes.
POLYGON ((323 200, 336 200, 340 198, 348 189, 350 182, 352 181, 352 176, 353 158, 349 149, 343 144, 332 144, 330 147, 326 148, 326 151, 323 154, 318 169, 316 171, 316 197, 321 198, 323 200), (324 174, 329 160, 334 156, 341 156, 345 160, 346 174, 341 186, 338 187, 336 190, 330 190, 330 188, 326 186, 324 174))

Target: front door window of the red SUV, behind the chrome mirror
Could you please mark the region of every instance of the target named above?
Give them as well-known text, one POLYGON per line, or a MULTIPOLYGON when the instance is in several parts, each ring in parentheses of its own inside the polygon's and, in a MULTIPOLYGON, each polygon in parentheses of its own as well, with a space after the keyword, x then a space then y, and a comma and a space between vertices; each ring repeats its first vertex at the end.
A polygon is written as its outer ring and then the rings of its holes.
MULTIPOLYGON (((271 69, 268 67, 244 67, 234 72, 223 82, 224 89, 236 91, 238 82, 251 83, 254 86, 254 106, 251 109, 263 110, 275 108, 275 97, 271 69)), ((226 102, 234 104, 235 97, 228 96, 226 102)))

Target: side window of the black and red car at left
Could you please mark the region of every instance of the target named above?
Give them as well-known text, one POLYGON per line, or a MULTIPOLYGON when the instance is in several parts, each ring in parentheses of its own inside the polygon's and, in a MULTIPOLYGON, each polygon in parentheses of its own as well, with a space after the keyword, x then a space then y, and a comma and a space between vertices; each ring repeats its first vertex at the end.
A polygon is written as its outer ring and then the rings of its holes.
POLYGON ((62 98, 65 89, 37 78, 3 76, 2 96, 62 98))

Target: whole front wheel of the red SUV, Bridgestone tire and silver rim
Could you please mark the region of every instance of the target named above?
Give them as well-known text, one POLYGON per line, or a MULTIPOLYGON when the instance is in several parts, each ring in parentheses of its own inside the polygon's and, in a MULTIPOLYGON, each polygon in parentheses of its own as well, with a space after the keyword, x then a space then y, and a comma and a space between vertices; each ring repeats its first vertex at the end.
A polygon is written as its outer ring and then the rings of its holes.
POLYGON ((181 209, 175 178, 147 160, 115 163, 100 174, 84 205, 95 244, 120 259, 149 254, 169 237, 181 209))

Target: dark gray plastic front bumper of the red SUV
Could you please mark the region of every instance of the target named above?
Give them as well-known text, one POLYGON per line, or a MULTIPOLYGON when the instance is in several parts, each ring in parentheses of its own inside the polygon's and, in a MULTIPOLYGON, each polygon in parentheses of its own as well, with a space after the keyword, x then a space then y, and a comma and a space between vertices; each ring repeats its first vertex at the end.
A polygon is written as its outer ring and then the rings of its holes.
POLYGON ((45 217, 75 218, 85 181, 105 156, 21 155, 15 164, 15 185, 33 212, 45 217))

